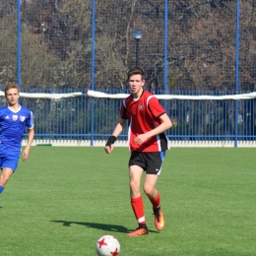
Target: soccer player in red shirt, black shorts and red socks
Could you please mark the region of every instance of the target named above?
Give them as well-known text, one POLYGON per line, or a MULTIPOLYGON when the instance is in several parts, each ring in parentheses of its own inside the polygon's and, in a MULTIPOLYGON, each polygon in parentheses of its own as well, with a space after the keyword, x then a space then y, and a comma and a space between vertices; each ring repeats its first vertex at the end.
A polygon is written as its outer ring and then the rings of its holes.
POLYGON ((105 145, 105 152, 110 154, 114 149, 116 137, 122 132, 126 121, 129 122, 128 141, 131 157, 129 160, 130 197, 134 215, 139 227, 128 233, 128 236, 149 233, 144 214, 144 203, 140 192, 141 178, 144 171, 144 192, 153 205, 155 224, 161 230, 165 224, 160 209, 160 193, 156 189, 168 140, 164 131, 172 124, 160 105, 159 99, 144 91, 144 71, 135 67, 128 72, 127 82, 132 94, 123 100, 119 123, 105 145))

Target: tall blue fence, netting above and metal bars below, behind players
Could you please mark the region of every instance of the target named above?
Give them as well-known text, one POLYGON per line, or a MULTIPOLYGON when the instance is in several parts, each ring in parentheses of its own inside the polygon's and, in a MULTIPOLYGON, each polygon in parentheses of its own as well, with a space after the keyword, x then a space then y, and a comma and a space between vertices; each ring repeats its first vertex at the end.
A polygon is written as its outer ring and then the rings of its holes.
MULTIPOLYGON (((36 0, 17 6, 4 0, 2 7, 1 87, 17 82, 28 93, 84 94, 22 98, 34 113, 37 140, 104 140, 121 100, 90 98, 86 90, 127 93, 126 72, 138 62, 155 94, 222 96, 256 88, 252 0, 36 0), (143 37, 135 40, 138 29, 143 37)), ((255 99, 161 103, 173 122, 172 141, 255 140, 255 99)), ((126 129, 119 138, 127 139, 126 129)))

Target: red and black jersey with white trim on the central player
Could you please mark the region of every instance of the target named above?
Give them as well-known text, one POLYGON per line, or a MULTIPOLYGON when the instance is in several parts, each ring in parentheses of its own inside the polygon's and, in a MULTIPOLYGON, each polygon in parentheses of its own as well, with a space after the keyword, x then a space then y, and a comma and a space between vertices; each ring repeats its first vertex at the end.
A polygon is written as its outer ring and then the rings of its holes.
POLYGON ((120 116, 122 119, 128 119, 128 141, 130 152, 161 152, 168 149, 168 140, 164 133, 151 137, 142 145, 134 142, 134 139, 147 133, 160 125, 160 116, 165 113, 160 105, 159 99, 148 91, 137 99, 132 95, 123 100, 120 116))

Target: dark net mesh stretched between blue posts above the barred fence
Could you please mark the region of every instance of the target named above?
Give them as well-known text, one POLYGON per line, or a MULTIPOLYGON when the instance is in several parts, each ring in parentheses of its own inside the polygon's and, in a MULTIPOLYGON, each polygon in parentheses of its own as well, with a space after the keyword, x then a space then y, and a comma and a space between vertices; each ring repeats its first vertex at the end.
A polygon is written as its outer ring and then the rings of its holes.
MULTIPOLYGON (((22 87, 90 88, 93 76, 96 88, 125 88, 127 69, 139 62, 152 89, 162 89, 166 83, 165 90, 233 90, 239 36, 239 90, 253 90, 255 4, 253 0, 240 3, 237 35, 237 2, 23 0, 22 87), (132 35, 136 29, 143 31, 138 44, 132 35)), ((0 81, 4 85, 17 80, 17 1, 2 0, 0 10, 0 81)))

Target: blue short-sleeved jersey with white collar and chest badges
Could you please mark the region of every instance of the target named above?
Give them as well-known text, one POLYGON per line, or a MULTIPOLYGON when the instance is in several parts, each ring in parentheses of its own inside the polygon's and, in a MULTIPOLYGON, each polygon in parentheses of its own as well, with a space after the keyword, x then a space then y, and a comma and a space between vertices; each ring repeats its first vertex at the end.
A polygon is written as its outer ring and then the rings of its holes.
POLYGON ((0 107, 0 157, 19 156, 26 127, 33 128, 32 111, 20 106, 14 111, 9 106, 0 107))

